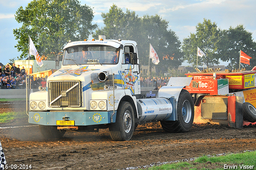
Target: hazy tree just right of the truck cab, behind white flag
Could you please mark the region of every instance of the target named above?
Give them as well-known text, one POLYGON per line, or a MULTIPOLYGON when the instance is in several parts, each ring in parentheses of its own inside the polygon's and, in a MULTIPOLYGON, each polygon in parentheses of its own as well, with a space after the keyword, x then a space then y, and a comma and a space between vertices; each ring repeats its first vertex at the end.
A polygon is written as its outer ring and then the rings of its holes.
POLYGON ((159 57, 159 64, 156 66, 156 74, 167 72, 168 68, 178 68, 182 64, 182 52, 180 50, 181 42, 178 40, 175 32, 168 30, 168 21, 162 19, 159 15, 142 17, 142 39, 138 41, 142 44, 140 51, 142 64, 148 65, 149 44, 152 44, 159 57))

